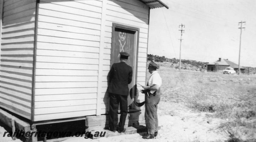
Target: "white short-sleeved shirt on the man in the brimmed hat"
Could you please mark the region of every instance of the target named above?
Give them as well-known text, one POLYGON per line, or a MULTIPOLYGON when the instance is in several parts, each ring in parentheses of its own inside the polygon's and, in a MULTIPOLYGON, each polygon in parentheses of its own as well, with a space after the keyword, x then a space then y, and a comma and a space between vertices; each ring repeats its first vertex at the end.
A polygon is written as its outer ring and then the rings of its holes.
MULTIPOLYGON (((156 70, 152 72, 152 74, 151 74, 151 76, 149 77, 149 80, 148 80, 148 86, 150 86, 152 84, 158 85, 159 88, 156 90, 156 92, 159 93, 160 87, 162 86, 162 78, 156 70)), ((155 92, 155 90, 150 91, 150 93, 152 93, 152 94, 154 92, 155 92)))

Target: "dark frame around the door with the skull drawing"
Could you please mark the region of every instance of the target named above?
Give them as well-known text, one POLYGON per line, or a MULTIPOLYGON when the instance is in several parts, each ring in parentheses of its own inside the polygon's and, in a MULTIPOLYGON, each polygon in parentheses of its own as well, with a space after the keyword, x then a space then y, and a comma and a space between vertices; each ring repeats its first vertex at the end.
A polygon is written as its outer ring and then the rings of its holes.
MULTIPOLYGON (((132 27, 132 26, 128 26, 128 25, 122 25, 122 24, 117 24, 117 23, 112 23, 112 39, 111 39, 111 55, 110 55, 110 66, 113 65, 113 62, 111 59, 113 59, 114 57, 114 34, 115 34, 115 28, 120 28, 120 29, 125 29, 128 31, 134 31, 135 32, 135 40, 136 42, 134 42, 134 44, 136 45, 136 47, 134 48, 135 53, 136 53, 136 58, 134 58, 133 63, 134 63, 134 73, 132 79, 134 79, 134 86, 137 87, 137 72, 138 72, 138 53, 139 53, 139 37, 140 37, 140 28, 137 27, 132 27)), ((134 95, 136 90, 132 90, 132 97, 133 97, 133 103, 132 103, 132 108, 135 108, 134 106, 134 95)))

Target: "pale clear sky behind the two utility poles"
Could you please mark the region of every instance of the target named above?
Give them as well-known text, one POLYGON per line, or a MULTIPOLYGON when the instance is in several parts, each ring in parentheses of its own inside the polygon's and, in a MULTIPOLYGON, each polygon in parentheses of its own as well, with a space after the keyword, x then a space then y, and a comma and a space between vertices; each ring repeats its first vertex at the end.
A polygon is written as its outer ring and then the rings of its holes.
POLYGON ((255 0, 161 0, 169 6, 150 10, 148 54, 214 62, 228 59, 240 66, 256 67, 255 0))

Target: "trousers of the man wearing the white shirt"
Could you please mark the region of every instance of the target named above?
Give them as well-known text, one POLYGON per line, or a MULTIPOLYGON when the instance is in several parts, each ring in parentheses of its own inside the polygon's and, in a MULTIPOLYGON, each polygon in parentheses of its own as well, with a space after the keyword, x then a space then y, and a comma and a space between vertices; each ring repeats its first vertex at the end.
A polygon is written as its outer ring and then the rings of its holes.
POLYGON ((160 95, 153 96, 153 94, 151 94, 149 97, 145 95, 145 122, 148 134, 150 135, 158 131, 157 104, 159 101, 160 95))

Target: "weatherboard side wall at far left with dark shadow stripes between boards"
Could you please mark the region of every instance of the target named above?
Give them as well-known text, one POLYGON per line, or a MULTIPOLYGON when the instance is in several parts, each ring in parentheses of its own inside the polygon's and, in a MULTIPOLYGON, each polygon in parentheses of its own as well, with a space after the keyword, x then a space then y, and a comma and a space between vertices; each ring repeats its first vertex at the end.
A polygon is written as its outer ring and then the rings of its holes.
POLYGON ((0 107, 31 119, 36 0, 4 0, 0 107))

